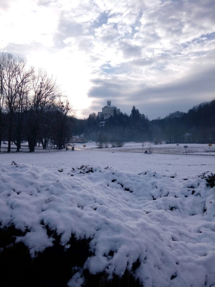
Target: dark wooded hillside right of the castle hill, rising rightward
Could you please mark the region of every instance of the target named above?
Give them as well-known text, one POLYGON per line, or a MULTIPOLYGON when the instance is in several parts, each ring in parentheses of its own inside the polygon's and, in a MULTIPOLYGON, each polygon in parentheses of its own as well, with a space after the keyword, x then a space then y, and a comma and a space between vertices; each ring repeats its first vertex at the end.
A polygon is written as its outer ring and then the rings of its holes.
POLYGON ((167 143, 215 143, 215 99, 189 109, 170 113, 150 123, 154 141, 167 143))

